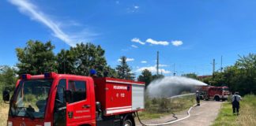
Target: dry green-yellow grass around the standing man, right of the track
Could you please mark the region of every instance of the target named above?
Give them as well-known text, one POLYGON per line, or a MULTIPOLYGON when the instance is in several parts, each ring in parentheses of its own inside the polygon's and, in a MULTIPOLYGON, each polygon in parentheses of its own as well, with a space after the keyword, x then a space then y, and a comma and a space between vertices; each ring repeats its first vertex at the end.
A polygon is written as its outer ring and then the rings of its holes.
POLYGON ((220 109, 213 126, 255 126, 256 125, 256 96, 246 95, 240 102, 240 114, 232 113, 232 104, 225 102, 220 109))

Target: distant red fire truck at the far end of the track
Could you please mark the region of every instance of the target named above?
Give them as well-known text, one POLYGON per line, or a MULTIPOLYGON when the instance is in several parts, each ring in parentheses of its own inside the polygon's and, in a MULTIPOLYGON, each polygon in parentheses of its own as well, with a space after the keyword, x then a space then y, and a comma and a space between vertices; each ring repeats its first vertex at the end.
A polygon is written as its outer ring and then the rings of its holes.
POLYGON ((230 92, 228 87, 214 87, 214 86, 202 86, 199 88, 201 98, 205 100, 213 99, 216 101, 224 101, 228 99, 230 92))

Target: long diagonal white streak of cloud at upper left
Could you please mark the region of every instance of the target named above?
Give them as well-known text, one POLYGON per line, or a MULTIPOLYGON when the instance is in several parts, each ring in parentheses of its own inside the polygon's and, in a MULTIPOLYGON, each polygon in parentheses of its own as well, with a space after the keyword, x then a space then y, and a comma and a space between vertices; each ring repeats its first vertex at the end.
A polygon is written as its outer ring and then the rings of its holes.
POLYGON ((90 37, 96 34, 92 34, 89 31, 79 31, 77 33, 68 34, 68 31, 63 31, 59 24, 63 22, 56 21, 47 17, 36 5, 32 4, 28 0, 9 0, 14 6, 17 6, 21 13, 28 15, 32 20, 36 20, 47 28, 53 31, 53 35, 70 46, 75 46, 76 43, 82 41, 89 41, 90 37))

